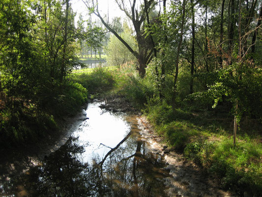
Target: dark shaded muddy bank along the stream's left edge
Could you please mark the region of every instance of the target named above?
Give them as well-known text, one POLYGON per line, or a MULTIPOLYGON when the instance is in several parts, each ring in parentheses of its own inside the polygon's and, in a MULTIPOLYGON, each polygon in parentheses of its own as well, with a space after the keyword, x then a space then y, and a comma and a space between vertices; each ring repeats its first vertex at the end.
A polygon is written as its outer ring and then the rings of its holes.
MULTIPOLYGON (((87 118, 87 104, 71 117, 63 117, 58 121, 59 131, 47 133, 42 140, 32 142, 26 147, 0 151, 0 185, 25 171, 38 165, 43 158, 56 150, 68 140, 72 131, 76 130, 87 118)), ((1 188, 0 188, 1 189, 1 188)))

